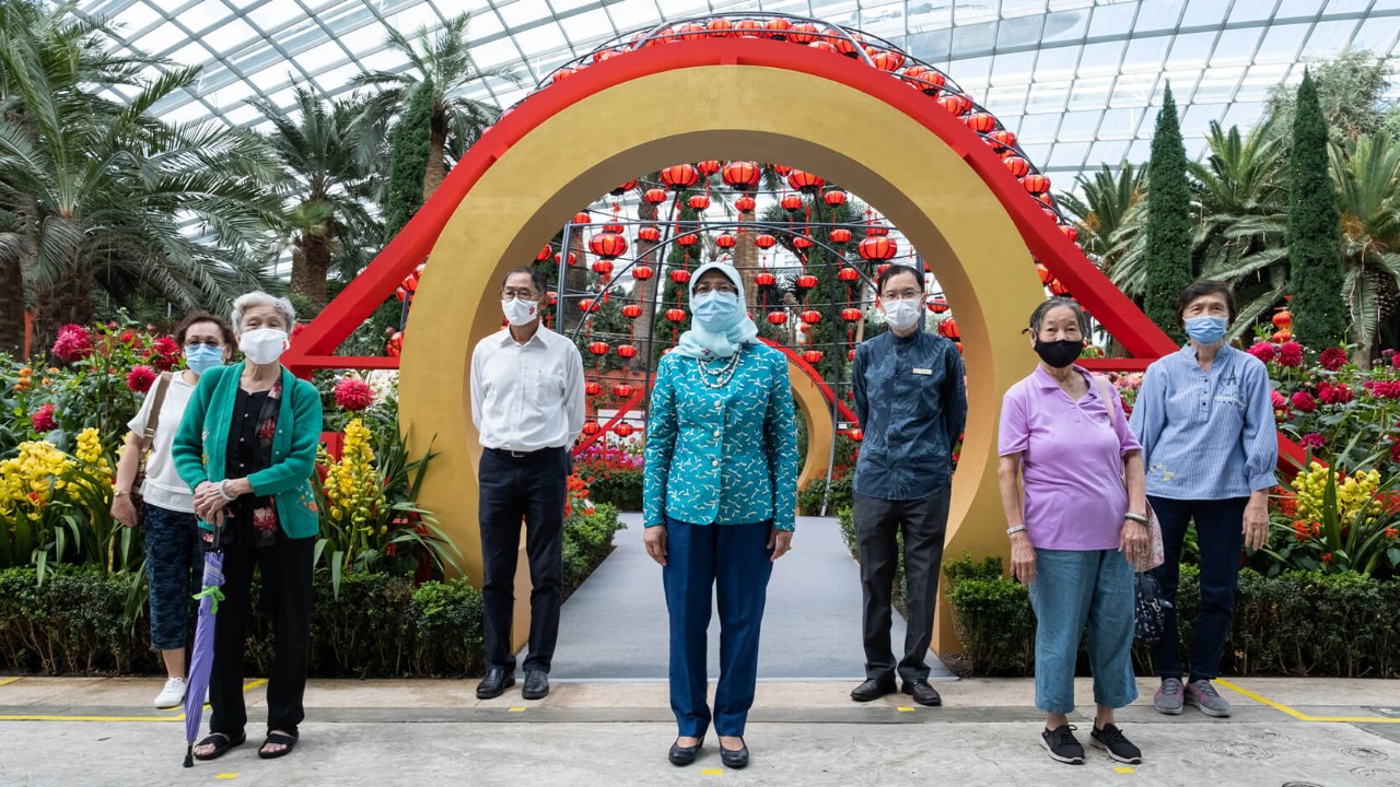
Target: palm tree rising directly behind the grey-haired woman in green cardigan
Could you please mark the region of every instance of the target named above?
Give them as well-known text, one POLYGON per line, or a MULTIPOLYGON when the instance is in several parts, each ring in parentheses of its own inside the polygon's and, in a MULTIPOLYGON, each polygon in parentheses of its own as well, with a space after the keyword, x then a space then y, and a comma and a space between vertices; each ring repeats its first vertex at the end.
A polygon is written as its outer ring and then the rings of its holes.
POLYGON ((288 115, 266 99, 255 99, 273 132, 267 141, 281 158, 283 193, 290 203, 283 242, 291 246, 291 291, 307 298, 312 312, 326 307, 326 277, 339 262, 353 277, 368 262, 365 238, 379 237, 365 207, 374 171, 350 144, 350 126, 360 111, 353 101, 325 102, 295 85, 288 115))

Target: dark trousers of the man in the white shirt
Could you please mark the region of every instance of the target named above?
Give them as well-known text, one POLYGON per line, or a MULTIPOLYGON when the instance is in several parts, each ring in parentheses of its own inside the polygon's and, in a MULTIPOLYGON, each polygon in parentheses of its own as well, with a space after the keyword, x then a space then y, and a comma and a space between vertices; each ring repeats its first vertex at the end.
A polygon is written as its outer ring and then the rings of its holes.
POLYGON ((545 448, 521 457, 487 448, 479 471, 482 529, 482 602, 486 620, 486 667, 515 671, 511 622, 515 615, 515 563, 525 524, 529 557, 529 655, 525 669, 543 669, 554 658, 559 608, 564 587, 564 500, 568 448, 545 448))

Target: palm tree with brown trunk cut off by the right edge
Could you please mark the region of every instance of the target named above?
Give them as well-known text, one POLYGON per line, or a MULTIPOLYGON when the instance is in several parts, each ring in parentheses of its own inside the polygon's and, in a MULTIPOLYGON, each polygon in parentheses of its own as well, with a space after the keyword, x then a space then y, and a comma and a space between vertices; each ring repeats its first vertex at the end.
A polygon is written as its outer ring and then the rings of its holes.
POLYGON ((1396 311, 1400 283, 1400 144, 1382 132, 1364 134, 1345 150, 1333 146, 1331 171, 1354 360, 1369 364, 1379 329, 1396 311))

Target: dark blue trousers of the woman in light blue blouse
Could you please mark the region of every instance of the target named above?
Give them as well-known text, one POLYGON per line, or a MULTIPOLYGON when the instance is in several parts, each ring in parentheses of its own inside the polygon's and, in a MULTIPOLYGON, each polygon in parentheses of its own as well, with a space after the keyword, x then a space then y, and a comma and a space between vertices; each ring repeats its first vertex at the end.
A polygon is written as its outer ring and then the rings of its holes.
POLYGON ((1221 674, 1221 654, 1235 615, 1235 581, 1239 553, 1245 548, 1245 507, 1249 497, 1228 500, 1169 500, 1149 497, 1162 525, 1162 555, 1166 559, 1152 574, 1162 595, 1172 602, 1166 632, 1152 646, 1152 668, 1162 678, 1182 676, 1182 634, 1176 626, 1176 585, 1182 569, 1186 527, 1196 520, 1196 542, 1201 549, 1201 609, 1196 618, 1191 647, 1191 681, 1214 681, 1221 674))

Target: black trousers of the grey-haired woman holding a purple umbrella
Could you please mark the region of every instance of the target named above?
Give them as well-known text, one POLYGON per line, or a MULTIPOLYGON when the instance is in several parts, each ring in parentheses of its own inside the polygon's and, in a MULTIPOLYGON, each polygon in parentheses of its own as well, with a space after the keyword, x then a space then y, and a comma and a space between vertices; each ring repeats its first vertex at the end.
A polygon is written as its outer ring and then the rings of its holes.
MULTIPOLYGON (((241 534, 242 535, 242 534, 241 534)), ((252 612, 253 566, 262 573, 262 604, 272 616, 274 650, 267 675, 267 731, 295 734, 305 718, 311 644, 311 560, 316 539, 297 538, 255 548, 252 538, 224 546, 224 601, 214 615, 214 665, 209 678, 209 731, 238 737, 244 707, 244 644, 252 612)))

